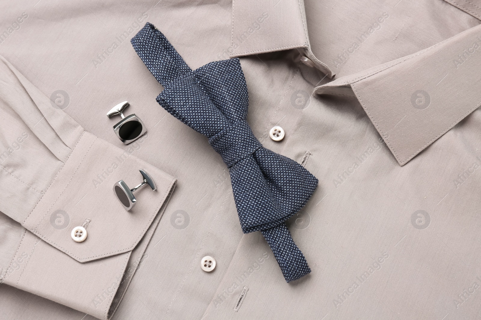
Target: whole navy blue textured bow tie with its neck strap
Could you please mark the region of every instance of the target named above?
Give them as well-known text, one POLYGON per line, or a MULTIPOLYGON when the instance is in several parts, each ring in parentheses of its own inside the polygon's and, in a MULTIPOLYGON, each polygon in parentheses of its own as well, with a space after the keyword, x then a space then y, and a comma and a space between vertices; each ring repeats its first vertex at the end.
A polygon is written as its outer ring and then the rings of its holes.
POLYGON ((157 102, 207 136, 229 168, 242 231, 261 231, 287 282, 311 270, 285 221, 316 189, 317 179, 297 162, 264 148, 245 121, 247 86, 239 59, 192 71, 165 36, 147 23, 132 46, 164 86, 157 102))

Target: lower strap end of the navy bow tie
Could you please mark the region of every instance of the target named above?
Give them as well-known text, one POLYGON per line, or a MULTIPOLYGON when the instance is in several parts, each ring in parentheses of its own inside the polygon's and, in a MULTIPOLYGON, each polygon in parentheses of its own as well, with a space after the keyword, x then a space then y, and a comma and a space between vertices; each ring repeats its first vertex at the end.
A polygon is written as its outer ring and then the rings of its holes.
POLYGON ((287 282, 311 272, 301 250, 296 246, 285 224, 262 230, 287 282))

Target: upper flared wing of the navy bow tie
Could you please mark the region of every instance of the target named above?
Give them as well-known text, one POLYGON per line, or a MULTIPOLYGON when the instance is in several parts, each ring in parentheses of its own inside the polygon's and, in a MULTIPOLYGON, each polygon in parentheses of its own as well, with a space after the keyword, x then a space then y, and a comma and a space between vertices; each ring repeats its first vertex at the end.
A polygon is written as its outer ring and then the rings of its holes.
POLYGON ((157 102, 211 138, 247 115, 247 86, 241 71, 238 59, 208 63, 168 83, 157 102))

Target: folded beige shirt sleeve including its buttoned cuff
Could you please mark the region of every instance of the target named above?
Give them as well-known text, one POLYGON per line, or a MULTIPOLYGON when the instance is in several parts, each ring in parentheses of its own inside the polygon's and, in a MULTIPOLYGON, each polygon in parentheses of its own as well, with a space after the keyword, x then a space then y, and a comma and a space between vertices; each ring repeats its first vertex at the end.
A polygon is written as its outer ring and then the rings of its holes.
POLYGON ((175 178, 85 131, 2 57, 0 119, 0 283, 109 319, 175 178), (112 188, 139 184, 139 169, 157 189, 126 211, 112 188))

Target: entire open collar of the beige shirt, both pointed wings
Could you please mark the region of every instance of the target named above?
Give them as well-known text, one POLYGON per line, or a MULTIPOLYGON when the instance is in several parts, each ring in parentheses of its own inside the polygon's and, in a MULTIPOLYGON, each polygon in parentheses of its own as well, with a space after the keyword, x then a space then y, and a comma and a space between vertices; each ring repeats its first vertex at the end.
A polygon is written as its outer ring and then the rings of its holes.
MULTIPOLYGON (((297 48, 316 68, 334 75, 310 50, 302 0, 235 0, 232 12, 231 57, 297 48)), ((480 34, 478 25, 314 92, 355 96, 403 166, 480 106, 480 34)))

